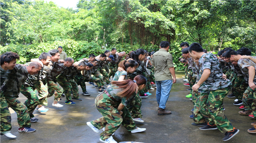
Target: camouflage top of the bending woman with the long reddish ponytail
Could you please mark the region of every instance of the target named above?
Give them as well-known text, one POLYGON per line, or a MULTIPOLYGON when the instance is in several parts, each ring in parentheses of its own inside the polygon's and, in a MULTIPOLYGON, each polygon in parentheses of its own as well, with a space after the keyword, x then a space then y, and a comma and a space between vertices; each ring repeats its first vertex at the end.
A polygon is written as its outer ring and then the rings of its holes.
POLYGON ((120 97, 117 94, 119 92, 121 92, 123 89, 117 88, 117 86, 114 85, 110 85, 106 91, 109 93, 109 95, 111 95, 115 100, 117 101, 121 101, 121 103, 124 106, 129 105, 129 103, 133 100, 133 98, 135 97, 136 93, 134 92, 132 96, 130 96, 130 98, 126 98, 126 97, 120 97))

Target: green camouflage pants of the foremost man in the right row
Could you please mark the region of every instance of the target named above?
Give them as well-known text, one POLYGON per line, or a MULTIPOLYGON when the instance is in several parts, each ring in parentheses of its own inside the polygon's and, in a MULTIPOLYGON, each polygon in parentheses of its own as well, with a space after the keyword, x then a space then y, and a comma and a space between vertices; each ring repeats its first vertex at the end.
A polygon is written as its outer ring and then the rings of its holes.
POLYGON ((212 90, 210 93, 201 93, 200 112, 209 121, 209 124, 215 124, 221 132, 233 130, 232 124, 226 118, 223 112, 223 99, 228 94, 230 86, 212 90), (207 101, 205 102, 205 99, 207 101), (204 108, 202 108, 204 107, 204 108))

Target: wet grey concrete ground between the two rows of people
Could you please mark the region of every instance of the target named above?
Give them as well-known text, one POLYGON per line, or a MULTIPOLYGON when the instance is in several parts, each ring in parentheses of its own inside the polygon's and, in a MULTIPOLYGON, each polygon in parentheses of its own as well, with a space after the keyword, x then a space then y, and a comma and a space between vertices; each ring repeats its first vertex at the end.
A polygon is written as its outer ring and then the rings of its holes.
MULTIPOLYGON (((166 108, 171 115, 157 115, 158 105, 155 98, 155 90, 146 99, 142 99, 142 113, 144 123, 136 122, 140 128, 146 128, 142 133, 130 133, 124 127, 120 127, 113 138, 117 142, 136 141, 144 143, 172 143, 172 142, 223 142, 224 133, 219 130, 200 130, 200 126, 192 126, 193 119, 189 118, 193 104, 185 96, 189 94, 188 86, 184 86, 181 78, 184 71, 176 71, 177 83, 173 84, 170 97, 166 108)), ((94 100, 98 95, 98 89, 86 83, 87 91, 91 96, 80 96, 83 101, 76 101, 76 105, 66 105, 65 97, 59 102, 64 105, 62 108, 52 106, 53 97, 48 98, 48 112, 40 113, 34 111, 34 115, 39 119, 38 122, 31 123, 31 127, 36 131, 33 133, 18 132, 17 115, 10 109, 12 116, 11 133, 17 136, 17 139, 8 139, 1 136, 1 142, 4 143, 35 143, 35 142, 86 142, 100 143, 100 133, 95 133, 86 125, 87 121, 95 120, 101 117, 101 114, 95 107, 94 100)), ((82 90, 79 90, 82 93, 82 90)), ((24 102, 26 98, 20 94, 18 98, 24 102)), ((256 134, 248 133, 251 128, 253 118, 247 115, 239 115, 239 106, 234 106, 235 98, 225 98, 225 114, 233 126, 240 132, 228 142, 247 143, 256 142, 256 134)))

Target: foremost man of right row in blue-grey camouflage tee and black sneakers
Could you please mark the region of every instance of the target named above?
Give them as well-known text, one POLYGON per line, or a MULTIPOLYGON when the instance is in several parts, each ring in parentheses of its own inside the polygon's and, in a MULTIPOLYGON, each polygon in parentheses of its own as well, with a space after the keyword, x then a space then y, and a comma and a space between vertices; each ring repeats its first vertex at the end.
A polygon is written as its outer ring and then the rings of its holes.
POLYGON ((222 78, 223 73, 217 57, 211 53, 204 53, 199 43, 192 43, 189 46, 189 54, 195 60, 199 59, 200 64, 198 83, 192 86, 192 90, 198 89, 201 93, 200 106, 206 107, 200 107, 200 112, 208 120, 208 125, 200 129, 226 131, 223 141, 227 141, 239 132, 226 118, 222 108, 223 99, 229 92, 231 82, 222 78))

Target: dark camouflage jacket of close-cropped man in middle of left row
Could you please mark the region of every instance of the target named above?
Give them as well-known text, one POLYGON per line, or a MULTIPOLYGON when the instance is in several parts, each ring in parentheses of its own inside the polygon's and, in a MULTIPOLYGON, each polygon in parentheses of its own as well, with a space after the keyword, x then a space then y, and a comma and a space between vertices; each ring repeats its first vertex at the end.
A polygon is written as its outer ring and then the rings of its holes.
MULTIPOLYGON (((52 61, 51 61, 52 62, 52 61)), ((50 63, 51 63, 50 62, 50 63)), ((50 74, 46 77, 47 80, 56 80, 56 77, 67 67, 64 66, 60 61, 54 62, 52 70, 49 70, 50 74)))

